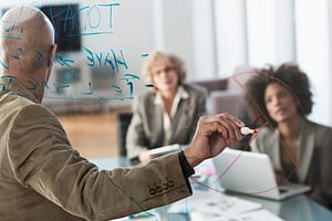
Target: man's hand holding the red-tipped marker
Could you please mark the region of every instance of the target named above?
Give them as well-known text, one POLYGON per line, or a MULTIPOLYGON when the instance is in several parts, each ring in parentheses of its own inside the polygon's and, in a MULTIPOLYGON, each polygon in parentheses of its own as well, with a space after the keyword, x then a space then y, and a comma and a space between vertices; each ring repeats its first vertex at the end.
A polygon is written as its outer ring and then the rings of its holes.
POLYGON ((243 138, 240 128, 245 124, 230 114, 204 116, 198 120, 191 144, 185 156, 191 167, 203 160, 217 156, 228 145, 243 138))

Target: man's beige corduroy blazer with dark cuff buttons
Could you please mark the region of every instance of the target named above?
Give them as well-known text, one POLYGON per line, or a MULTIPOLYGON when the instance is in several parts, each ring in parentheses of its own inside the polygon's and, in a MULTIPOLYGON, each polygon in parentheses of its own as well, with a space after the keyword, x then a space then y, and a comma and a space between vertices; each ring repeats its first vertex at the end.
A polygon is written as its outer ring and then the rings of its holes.
POLYGON ((110 220, 191 193, 178 155, 102 170, 14 78, 0 78, 0 220, 110 220))

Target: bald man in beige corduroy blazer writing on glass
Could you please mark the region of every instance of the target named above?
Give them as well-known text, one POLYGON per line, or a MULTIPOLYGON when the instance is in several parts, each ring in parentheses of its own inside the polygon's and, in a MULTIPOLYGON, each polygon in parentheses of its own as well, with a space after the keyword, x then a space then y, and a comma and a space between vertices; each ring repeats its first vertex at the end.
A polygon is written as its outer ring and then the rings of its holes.
POLYGON ((110 220, 174 202, 191 194, 188 177, 195 166, 242 138, 239 119, 201 117, 185 151, 132 169, 98 171, 40 104, 56 50, 48 18, 35 8, 17 7, 0 25, 1 220, 110 220))

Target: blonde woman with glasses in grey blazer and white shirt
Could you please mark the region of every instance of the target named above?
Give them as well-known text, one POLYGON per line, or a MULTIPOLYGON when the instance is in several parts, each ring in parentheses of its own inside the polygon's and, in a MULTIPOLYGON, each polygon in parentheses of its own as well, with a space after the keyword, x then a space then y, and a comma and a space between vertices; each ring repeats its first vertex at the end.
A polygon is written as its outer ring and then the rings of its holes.
POLYGON ((136 97, 126 144, 128 158, 146 162, 153 157, 148 149, 190 141, 199 116, 206 113, 206 94, 185 84, 184 63, 173 54, 151 54, 143 73, 154 88, 136 97))

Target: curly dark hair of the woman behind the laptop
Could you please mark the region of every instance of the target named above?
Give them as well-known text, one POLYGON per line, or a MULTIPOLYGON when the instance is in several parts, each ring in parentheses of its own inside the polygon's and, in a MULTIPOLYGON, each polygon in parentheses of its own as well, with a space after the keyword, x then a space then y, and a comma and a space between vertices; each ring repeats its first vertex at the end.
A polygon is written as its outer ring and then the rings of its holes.
POLYGON ((246 83, 245 97, 251 116, 256 118, 263 116, 273 127, 277 126, 277 123, 269 116, 264 103, 264 92, 271 83, 279 83, 289 90, 300 104, 299 115, 307 116, 311 113, 313 102, 309 78, 297 64, 284 63, 278 69, 268 65, 268 67, 256 70, 256 73, 246 83))

